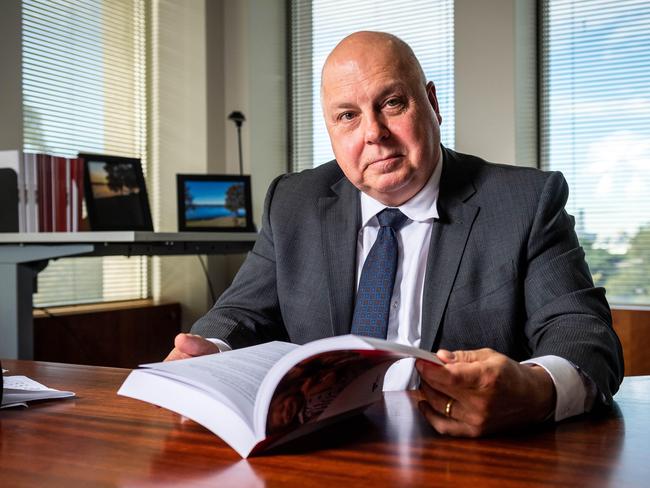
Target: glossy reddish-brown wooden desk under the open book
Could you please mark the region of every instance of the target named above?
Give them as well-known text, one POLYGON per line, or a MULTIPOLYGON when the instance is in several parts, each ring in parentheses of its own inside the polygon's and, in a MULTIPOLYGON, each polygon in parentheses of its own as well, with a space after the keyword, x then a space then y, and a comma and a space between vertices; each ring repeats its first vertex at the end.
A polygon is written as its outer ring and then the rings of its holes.
POLYGON ((629 377, 613 412, 489 439, 434 434, 412 394, 241 460, 192 421, 118 397, 128 370, 3 361, 77 399, 0 411, 2 486, 648 486, 650 377, 629 377))

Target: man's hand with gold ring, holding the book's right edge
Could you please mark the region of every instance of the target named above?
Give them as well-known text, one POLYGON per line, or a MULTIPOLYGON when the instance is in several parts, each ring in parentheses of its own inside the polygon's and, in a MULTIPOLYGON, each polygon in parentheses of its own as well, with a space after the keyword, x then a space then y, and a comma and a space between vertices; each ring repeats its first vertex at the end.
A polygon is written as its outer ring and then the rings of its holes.
POLYGON ((420 411, 441 434, 478 437, 541 422, 555 409, 555 386, 536 365, 491 349, 437 353, 444 366, 418 360, 420 411))

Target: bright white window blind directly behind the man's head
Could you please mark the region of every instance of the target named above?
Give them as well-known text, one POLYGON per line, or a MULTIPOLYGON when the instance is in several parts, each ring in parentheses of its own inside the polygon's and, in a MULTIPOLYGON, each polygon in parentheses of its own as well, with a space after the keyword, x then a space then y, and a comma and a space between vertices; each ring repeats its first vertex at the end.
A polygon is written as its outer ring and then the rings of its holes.
POLYGON ((320 108, 320 72, 328 53, 358 30, 406 41, 437 88, 443 144, 454 146, 453 0, 293 0, 291 2, 291 170, 334 158, 320 108))

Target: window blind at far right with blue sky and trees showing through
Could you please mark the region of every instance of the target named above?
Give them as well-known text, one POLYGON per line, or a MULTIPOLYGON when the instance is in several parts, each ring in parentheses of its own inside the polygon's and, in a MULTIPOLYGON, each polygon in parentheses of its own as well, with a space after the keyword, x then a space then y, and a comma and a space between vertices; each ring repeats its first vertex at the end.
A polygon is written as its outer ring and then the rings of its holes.
POLYGON ((541 162, 614 305, 650 305, 650 3, 547 0, 541 162))

